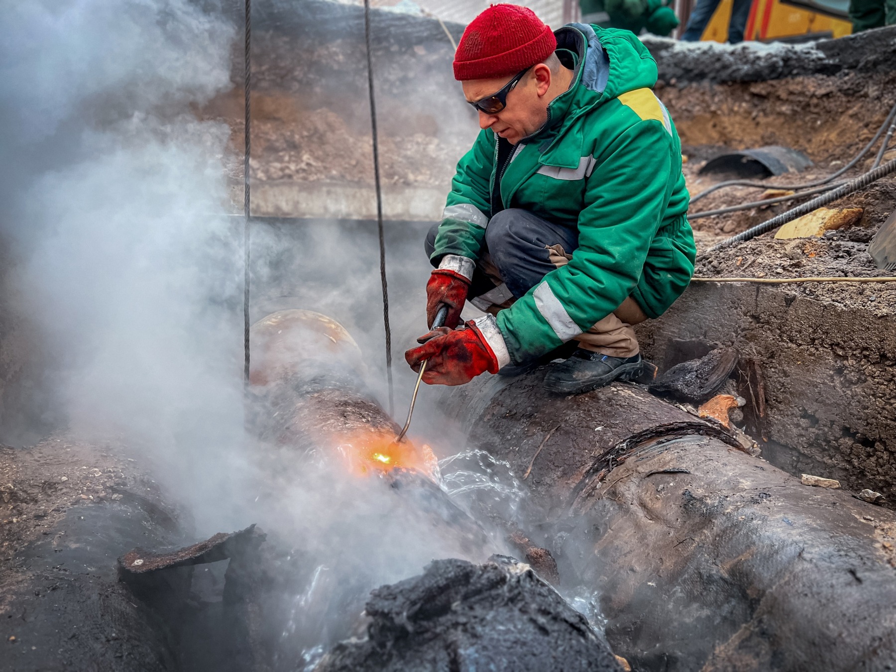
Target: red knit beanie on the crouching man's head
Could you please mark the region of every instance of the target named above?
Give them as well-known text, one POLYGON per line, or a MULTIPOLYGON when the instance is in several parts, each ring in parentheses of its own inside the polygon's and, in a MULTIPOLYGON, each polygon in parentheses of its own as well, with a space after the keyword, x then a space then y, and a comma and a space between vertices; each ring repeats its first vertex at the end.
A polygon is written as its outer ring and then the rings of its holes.
POLYGON ((463 31, 454 54, 454 79, 516 74, 545 60, 556 47, 554 32, 528 7, 492 4, 463 31))

